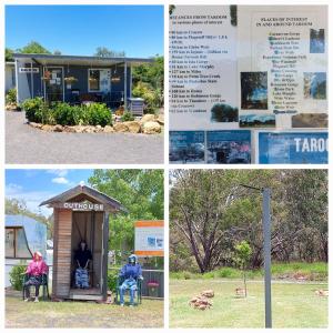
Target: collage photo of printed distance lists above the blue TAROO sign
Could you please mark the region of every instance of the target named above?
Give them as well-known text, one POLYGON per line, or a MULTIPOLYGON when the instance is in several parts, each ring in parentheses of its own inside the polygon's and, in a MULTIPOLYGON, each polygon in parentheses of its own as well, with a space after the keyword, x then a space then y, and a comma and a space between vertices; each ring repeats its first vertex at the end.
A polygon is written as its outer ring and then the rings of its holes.
POLYGON ((327 135, 326 6, 179 4, 169 21, 170 135, 229 131, 232 138, 240 129, 251 131, 251 160, 234 158, 233 149, 214 158, 205 141, 209 164, 327 164, 326 145, 311 158, 293 152, 306 134, 312 142, 327 135), (281 132, 285 157, 262 159, 268 152, 256 144, 261 131, 281 132))

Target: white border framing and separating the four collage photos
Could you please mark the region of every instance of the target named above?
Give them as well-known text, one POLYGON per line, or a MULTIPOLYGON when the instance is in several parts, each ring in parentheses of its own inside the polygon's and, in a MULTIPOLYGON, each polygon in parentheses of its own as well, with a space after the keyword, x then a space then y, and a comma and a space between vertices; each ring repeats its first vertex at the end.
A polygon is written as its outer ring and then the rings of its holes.
MULTIPOLYGON (((1 1, 0 4, 0 21, 1 21, 1 34, 2 34, 2 47, 1 47, 1 57, 0 61, 2 64, 2 68, 4 69, 4 4, 165 4, 164 8, 164 109, 168 110, 169 108, 169 39, 168 39, 168 33, 169 33, 169 11, 168 11, 168 6, 169 4, 329 4, 330 1, 327 0, 275 0, 275 1, 270 1, 270 0, 256 0, 256 1, 246 1, 246 0, 234 0, 234 1, 225 1, 225 0, 3 0, 1 1)), ((333 18, 332 16, 332 8, 333 6, 329 7, 329 16, 331 19, 333 18)), ((329 30, 332 32, 333 31, 333 21, 330 20, 329 17, 329 30)), ((27 18, 28 19, 28 18, 27 18)), ((333 33, 329 34, 329 53, 333 54, 333 33)), ((331 68, 329 63, 329 82, 331 79, 331 68)), ((17 81, 18 82, 18 81, 17 81)), ((4 75, 2 74, 0 78, 0 89, 1 91, 4 91, 4 75)), ((331 88, 331 84, 329 84, 329 97, 333 95, 333 90, 331 88)), ((2 98, 0 101, 1 110, 4 110, 4 99, 2 98)), ((330 101, 329 101, 329 109, 330 109, 330 101)), ((0 191, 0 212, 1 212, 1 218, 4 214, 4 168, 7 169, 164 169, 164 221, 165 221, 165 229, 164 229, 164 235, 165 240, 168 240, 169 235, 169 170, 171 169, 176 169, 176 168, 182 168, 182 169, 329 169, 330 170, 330 183, 329 183, 329 193, 333 191, 333 185, 332 185, 332 179, 331 179, 331 165, 333 162, 333 154, 329 154, 329 165, 316 165, 316 164, 286 164, 286 165, 275 165, 275 164, 268 164, 268 165, 259 165, 259 164, 244 164, 244 165, 226 165, 226 164, 198 164, 198 165, 189 165, 189 164, 169 164, 169 138, 167 135, 168 132, 168 124, 169 124, 169 115, 168 112, 165 111, 165 135, 164 135, 164 164, 142 164, 142 165, 129 165, 129 164, 7 164, 4 165, 4 112, 1 112, 0 117, 0 138, 1 140, 1 149, 0 149, 0 164, 1 164, 1 172, 0 172, 0 183, 1 183, 1 191, 0 191)), ((332 133, 332 121, 329 123, 329 132, 332 133)), ((331 142, 331 135, 329 135, 329 141, 331 142)), ((23 144, 23 143, 22 143, 23 144)), ((330 144, 332 147, 332 144, 330 144)), ((333 206, 333 195, 329 195, 329 204, 332 208, 333 206)), ((330 210, 331 211, 331 210, 330 210)), ((3 221, 3 219, 1 219, 3 221)), ((329 221, 331 221, 331 213, 329 212, 329 221)), ((2 222, 3 223, 3 222, 2 222)), ((3 224, 2 224, 3 226, 3 224)), ((333 229, 329 229, 329 240, 333 239, 333 229)), ((3 255, 4 253, 4 239, 3 239, 3 232, 0 233, 0 251, 3 255)), ((169 243, 165 242, 165 259, 169 258, 169 243)), ((333 256, 333 246, 330 242, 329 246, 329 256, 330 256, 330 279, 329 283, 332 285, 333 282, 333 269, 332 269, 332 256, 333 256)), ((1 258, 1 278, 0 278, 0 287, 3 291, 3 258, 1 258)), ((165 269, 165 276, 164 276, 164 284, 165 284, 165 301, 164 301, 164 329, 154 329, 152 332, 158 331, 158 332, 167 332, 167 331, 174 331, 174 332, 183 332, 184 330, 168 330, 168 322, 169 322, 169 262, 165 260, 164 262, 164 269, 165 269)), ((331 296, 332 297, 332 296, 331 296)), ((4 297, 2 296, 0 299, 0 311, 2 313, 1 315, 1 326, 4 326, 4 297)), ((244 314, 246 315, 246 314, 244 314)), ((330 311, 329 311, 329 327, 332 329, 332 319, 333 319, 333 306, 332 302, 330 301, 330 311)), ((31 320, 36 320, 32 317, 31 320)), ((131 320, 130 317, 128 320, 131 320)), ((56 329, 56 331, 58 331, 56 329)), ((60 331, 60 330, 59 330, 60 331)), ((62 332, 90 332, 92 330, 89 329, 64 329, 61 330, 62 332)), ((95 331, 95 329, 93 330, 95 331)), ((108 330, 109 331, 109 330, 108 330)), ((191 329, 186 330, 189 332, 202 332, 204 330, 198 330, 198 329, 191 329)), ((242 332, 258 332, 258 330, 241 330, 242 332)), ((274 330, 276 332, 283 332, 286 330, 274 330)), ((317 330, 314 330, 317 331, 317 330)), ((324 331, 329 331, 327 329, 324 331)), ((19 332, 19 330, 11 330, 11 332, 19 332)), ((24 330, 24 332, 33 332, 36 333, 34 329, 29 329, 24 330)), ((105 331, 107 332, 107 331, 105 331)), ((120 330, 113 330, 113 332, 144 332, 147 333, 147 329, 140 329, 140 330, 125 330, 125 329, 120 329, 120 330)), ((211 329, 209 332, 222 332, 221 329, 211 329)), ((223 332, 234 332, 234 330, 230 329, 223 329, 223 332)), ((293 332, 303 332, 303 330, 293 330, 293 332)))

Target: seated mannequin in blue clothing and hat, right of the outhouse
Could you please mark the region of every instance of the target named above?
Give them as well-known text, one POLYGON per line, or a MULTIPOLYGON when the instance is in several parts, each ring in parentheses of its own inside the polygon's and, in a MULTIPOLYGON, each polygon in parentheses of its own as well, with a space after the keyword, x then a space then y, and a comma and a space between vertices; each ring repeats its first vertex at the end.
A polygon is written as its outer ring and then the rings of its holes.
POLYGON ((119 287, 120 305, 124 305, 123 295, 127 290, 130 290, 130 306, 134 305, 134 294, 138 290, 138 279, 143 280, 141 265, 138 263, 135 254, 129 256, 129 263, 122 266, 120 276, 124 279, 119 287))

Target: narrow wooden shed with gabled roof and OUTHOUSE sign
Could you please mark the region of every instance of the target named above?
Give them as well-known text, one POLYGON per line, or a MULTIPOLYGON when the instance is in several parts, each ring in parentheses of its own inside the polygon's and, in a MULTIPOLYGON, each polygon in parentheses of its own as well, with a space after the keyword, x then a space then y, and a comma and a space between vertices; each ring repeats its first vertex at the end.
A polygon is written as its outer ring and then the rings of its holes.
POLYGON ((104 301, 108 291, 109 218, 125 212, 117 200, 87 185, 78 185, 40 205, 53 208, 52 299, 104 301), (81 240, 92 253, 89 289, 75 289, 74 253, 81 240))

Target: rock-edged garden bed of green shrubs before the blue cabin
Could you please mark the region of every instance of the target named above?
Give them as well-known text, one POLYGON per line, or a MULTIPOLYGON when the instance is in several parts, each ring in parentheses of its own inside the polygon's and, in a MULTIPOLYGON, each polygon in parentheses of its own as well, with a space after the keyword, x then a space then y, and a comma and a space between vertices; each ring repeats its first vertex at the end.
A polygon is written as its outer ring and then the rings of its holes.
POLYGON ((48 104, 41 98, 22 103, 29 125, 48 132, 113 133, 130 132, 155 134, 162 132, 163 114, 144 114, 141 119, 125 110, 114 113, 103 103, 70 105, 56 102, 48 104))

